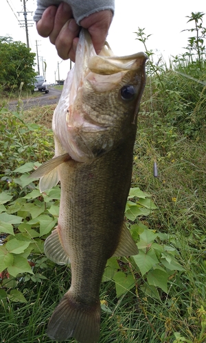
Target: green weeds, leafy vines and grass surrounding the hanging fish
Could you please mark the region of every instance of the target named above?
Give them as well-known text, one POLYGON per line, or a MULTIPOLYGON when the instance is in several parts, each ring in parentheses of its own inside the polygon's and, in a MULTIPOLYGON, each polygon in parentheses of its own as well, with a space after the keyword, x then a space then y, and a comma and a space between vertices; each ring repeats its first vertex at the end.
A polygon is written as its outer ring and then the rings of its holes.
MULTIPOLYGON (((100 343, 206 342, 203 19, 202 12, 188 17, 185 54, 169 66, 154 62, 150 35, 136 33, 150 58, 125 212, 139 255, 108 260, 100 343)), ((54 106, 0 108, 0 341, 52 343, 47 323, 71 282, 69 267, 43 254, 58 220, 60 186, 41 194, 27 176, 54 156, 54 106)))

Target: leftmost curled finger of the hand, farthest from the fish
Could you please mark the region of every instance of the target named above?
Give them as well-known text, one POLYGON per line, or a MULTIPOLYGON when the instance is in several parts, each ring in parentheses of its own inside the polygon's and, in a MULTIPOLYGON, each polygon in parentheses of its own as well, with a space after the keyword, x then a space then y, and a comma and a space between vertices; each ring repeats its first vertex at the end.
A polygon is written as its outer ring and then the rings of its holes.
POLYGON ((43 15, 36 23, 36 29, 38 34, 42 37, 48 37, 54 28, 54 19, 56 15, 57 8, 56 6, 49 6, 44 12, 43 15))

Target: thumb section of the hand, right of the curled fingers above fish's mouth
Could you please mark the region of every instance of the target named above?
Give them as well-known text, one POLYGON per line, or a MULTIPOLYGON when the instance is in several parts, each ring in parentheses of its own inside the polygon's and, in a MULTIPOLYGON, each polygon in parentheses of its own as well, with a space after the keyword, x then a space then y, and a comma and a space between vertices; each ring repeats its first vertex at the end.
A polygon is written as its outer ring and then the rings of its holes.
POLYGON ((110 10, 104 10, 95 12, 80 21, 80 25, 88 29, 91 34, 91 40, 97 54, 102 50, 112 20, 113 13, 110 10))

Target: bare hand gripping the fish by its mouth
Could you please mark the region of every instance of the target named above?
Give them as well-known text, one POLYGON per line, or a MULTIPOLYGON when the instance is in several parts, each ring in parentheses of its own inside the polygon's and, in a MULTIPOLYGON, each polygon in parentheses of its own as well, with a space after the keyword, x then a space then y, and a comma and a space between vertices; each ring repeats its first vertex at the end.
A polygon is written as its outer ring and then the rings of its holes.
MULTIPOLYGON (((80 25, 88 29, 91 34, 97 54, 104 45, 112 19, 113 12, 104 10, 90 14, 80 21, 80 25)), ((41 36, 49 36, 50 42, 56 46, 58 56, 62 60, 70 58, 75 62, 80 26, 73 19, 71 7, 67 3, 60 3, 58 8, 54 5, 49 6, 36 23, 36 29, 41 36)))

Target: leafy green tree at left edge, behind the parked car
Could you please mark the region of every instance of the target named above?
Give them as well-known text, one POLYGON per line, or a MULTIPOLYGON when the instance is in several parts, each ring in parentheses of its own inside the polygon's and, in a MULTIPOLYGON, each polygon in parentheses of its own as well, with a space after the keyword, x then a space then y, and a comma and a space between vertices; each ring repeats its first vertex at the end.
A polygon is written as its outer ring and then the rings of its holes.
POLYGON ((36 72, 35 54, 24 43, 0 36, 0 89, 13 91, 23 82, 23 88, 32 90, 36 72))

